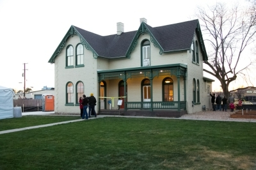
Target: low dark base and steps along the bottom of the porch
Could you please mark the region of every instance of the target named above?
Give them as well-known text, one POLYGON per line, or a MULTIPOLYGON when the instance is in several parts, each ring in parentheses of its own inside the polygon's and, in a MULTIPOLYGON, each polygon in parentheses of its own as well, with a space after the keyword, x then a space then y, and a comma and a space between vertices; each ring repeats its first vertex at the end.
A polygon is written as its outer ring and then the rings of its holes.
POLYGON ((121 115, 121 116, 145 116, 145 117, 163 117, 163 118, 180 118, 182 115, 187 114, 187 111, 124 111, 124 110, 101 110, 100 115, 121 115))

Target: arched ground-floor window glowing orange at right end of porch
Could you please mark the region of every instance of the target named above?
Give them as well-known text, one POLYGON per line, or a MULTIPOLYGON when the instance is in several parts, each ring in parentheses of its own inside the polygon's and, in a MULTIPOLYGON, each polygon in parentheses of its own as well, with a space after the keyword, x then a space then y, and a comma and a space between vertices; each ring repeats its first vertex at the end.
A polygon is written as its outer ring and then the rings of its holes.
POLYGON ((171 78, 163 80, 163 89, 163 101, 173 102, 173 80, 171 78))

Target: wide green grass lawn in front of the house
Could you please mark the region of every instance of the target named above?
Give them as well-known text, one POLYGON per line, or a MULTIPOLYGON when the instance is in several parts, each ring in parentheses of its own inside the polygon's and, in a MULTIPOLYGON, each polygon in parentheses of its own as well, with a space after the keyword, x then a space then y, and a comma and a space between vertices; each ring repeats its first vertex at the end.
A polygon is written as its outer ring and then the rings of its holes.
POLYGON ((256 169, 255 139, 256 123, 99 118, 1 134, 0 169, 256 169))

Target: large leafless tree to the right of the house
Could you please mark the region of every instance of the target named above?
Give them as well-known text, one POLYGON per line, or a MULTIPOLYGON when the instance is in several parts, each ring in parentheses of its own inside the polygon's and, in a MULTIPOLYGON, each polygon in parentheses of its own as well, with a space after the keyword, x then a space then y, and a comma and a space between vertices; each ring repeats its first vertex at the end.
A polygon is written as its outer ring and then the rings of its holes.
POLYGON ((242 53, 255 42, 255 2, 248 2, 250 6, 243 9, 239 9, 238 4, 230 9, 223 3, 216 3, 208 6, 209 10, 199 7, 196 13, 207 37, 204 41, 209 60, 204 62, 208 67, 204 71, 220 81, 226 97, 229 97, 230 82, 235 81, 237 75, 244 75, 254 63, 242 53))

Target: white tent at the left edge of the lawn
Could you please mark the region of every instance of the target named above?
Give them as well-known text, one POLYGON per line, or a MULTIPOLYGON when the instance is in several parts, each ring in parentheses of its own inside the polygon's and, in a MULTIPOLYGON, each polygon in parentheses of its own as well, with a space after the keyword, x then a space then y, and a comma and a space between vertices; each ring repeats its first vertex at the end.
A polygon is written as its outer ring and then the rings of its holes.
POLYGON ((0 120, 13 118, 13 89, 0 86, 0 120))

